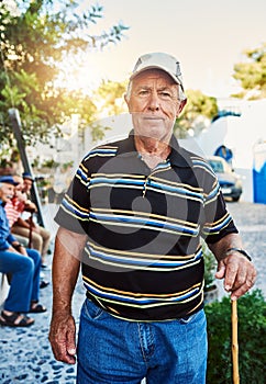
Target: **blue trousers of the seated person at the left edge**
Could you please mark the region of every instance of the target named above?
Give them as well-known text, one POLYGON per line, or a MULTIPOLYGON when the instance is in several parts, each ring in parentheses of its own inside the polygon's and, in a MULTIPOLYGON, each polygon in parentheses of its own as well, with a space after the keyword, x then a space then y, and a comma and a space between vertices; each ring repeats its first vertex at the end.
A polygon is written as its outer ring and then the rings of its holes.
POLYGON ((26 249, 27 257, 0 251, 0 272, 10 273, 12 279, 3 308, 10 312, 29 312, 31 302, 38 301, 41 255, 26 249))

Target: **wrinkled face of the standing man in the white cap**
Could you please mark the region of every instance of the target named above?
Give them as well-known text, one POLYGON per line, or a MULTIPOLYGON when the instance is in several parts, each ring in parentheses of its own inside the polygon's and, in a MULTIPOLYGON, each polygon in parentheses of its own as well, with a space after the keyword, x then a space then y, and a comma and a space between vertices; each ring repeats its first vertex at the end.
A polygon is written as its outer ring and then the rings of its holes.
POLYGON ((165 71, 148 69, 136 76, 125 102, 135 135, 168 143, 182 104, 178 100, 178 86, 165 71))

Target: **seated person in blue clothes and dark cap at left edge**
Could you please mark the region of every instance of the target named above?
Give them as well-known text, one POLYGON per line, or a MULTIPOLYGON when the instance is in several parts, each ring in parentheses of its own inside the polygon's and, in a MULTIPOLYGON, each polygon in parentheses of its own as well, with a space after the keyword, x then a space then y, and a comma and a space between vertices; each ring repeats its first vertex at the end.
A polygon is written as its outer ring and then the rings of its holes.
POLYGON ((13 197, 15 184, 12 176, 0 177, 0 272, 11 275, 0 325, 29 327, 34 319, 24 313, 47 309, 38 303, 41 256, 34 249, 25 249, 9 229, 4 204, 13 197))

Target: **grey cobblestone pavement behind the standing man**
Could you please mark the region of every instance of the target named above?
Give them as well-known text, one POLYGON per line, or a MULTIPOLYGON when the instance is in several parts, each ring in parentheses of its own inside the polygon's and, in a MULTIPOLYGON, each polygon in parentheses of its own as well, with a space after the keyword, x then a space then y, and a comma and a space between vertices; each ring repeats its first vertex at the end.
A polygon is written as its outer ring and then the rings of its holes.
MULTIPOLYGON (((253 256, 258 270, 255 287, 262 289, 266 296, 266 205, 252 203, 228 203, 236 225, 242 234, 245 249, 253 256)), ((53 211, 53 210, 52 210, 53 211)), ((48 227, 55 233, 53 213, 46 211, 48 227)), ((52 257, 47 260, 51 263, 52 257)), ((51 271, 44 272, 51 281, 51 271)), ((78 282, 74 295, 74 315, 78 325, 78 313, 85 293, 78 282)), ((41 290, 42 304, 46 314, 32 314, 35 324, 26 328, 0 327, 0 383, 23 384, 74 384, 76 365, 67 365, 54 360, 47 335, 51 318, 52 286, 41 290)))

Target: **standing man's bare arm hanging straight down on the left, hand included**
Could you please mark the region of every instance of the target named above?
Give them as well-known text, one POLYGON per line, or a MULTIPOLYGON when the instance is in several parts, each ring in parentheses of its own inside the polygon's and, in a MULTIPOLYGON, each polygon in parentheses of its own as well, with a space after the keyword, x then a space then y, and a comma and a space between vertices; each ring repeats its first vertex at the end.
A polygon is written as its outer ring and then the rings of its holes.
POLYGON ((71 297, 77 283, 80 255, 87 236, 59 228, 53 259, 53 315, 49 342, 56 360, 76 362, 76 325, 71 315, 71 297))

